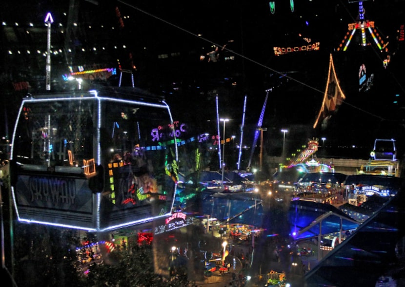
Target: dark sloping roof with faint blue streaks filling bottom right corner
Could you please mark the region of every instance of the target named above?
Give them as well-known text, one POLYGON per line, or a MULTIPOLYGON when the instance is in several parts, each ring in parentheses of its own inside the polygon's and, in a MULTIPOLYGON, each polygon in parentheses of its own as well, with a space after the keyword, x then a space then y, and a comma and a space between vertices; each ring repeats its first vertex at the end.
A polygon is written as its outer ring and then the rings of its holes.
MULTIPOLYGON (((404 282, 404 257, 396 250, 405 234, 405 194, 399 192, 342 244, 305 274, 305 285, 378 286, 382 275, 404 282)), ((389 286, 380 285, 380 286, 389 286)))

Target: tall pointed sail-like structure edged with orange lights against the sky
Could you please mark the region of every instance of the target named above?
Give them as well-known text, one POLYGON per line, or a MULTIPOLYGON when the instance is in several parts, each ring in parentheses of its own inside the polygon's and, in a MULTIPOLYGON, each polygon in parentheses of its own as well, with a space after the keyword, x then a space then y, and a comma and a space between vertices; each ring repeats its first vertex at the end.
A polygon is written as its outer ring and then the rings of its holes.
POLYGON ((332 54, 329 56, 329 70, 326 82, 326 89, 324 93, 324 99, 322 101, 322 107, 319 111, 318 118, 314 123, 314 129, 318 123, 324 120, 326 117, 335 113, 339 106, 343 103, 345 96, 340 88, 338 77, 336 76, 335 66, 333 64, 332 54))

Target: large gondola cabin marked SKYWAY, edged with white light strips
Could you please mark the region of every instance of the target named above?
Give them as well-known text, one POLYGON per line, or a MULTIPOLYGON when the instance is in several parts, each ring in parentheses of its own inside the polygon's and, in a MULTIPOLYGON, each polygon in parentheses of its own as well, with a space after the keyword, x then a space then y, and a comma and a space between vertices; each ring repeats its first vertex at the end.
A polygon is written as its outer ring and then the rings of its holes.
POLYGON ((134 88, 24 98, 10 158, 18 219, 105 231, 167 217, 174 130, 167 103, 134 88))

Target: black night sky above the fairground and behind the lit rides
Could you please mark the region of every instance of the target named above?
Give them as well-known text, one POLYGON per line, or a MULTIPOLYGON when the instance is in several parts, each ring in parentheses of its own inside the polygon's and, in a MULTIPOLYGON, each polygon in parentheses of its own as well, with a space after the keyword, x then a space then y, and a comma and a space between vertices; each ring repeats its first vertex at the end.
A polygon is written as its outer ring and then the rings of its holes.
MULTIPOLYGON (((41 23, 46 12, 51 11, 55 23, 67 25, 68 18, 63 12, 69 12, 70 7, 69 15, 77 16, 78 28, 71 33, 70 42, 55 38, 54 45, 68 42, 71 46, 87 48, 102 42, 108 51, 94 58, 77 53, 68 59, 70 64, 86 61, 116 64, 117 58, 125 64, 130 51, 137 66, 136 85, 164 94, 174 117, 200 125, 196 130, 213 128, 216 95, 220 115, 232 119, 227 127, 229 133, 239 133, 246 95, 245 122, 254 130, 265 91, 273 88, 263 127, 268 128, 265 140, 276 148, 281 146, 281 128, 290 130, 287 143, 291 147, 306 144, 313 136, 326 137, 327 143, 333 146, 372 146, 376 137, 402 141, 405 60, 404 41, 399 42, 397 37, 400 25, 404 24, 405 1, 364 1, 365 19, 374 20, 379 35, 389 42, 391 62, 386 69, 383 55, 373 42, 365 48, 359 45, 360 32, 356 32, 348 51, 337 51, 348 31, 347 24, 356 21, 358 2, 296 0, 294 12, 289 2, 275 0, 276 10, 272 15, 269 1, 264 0, 42 0, 35 3, 16 0, 3 1, 1 18, 7 23, 41 23), (123 29, 117 26, 115 7, 123 17, 123 29), (107 25, 115 25, 116 29, 105 33, 103 29, 107 25), (304 45, 304 38, 310 38, 311 43, 320 42, 320 50, 274 55, 274 46, 304 45), (225 43, 220 62, 200 61, 200 55, 212 51, 213 44, 225 43), (125 50, 113 48, 123 44, 125 50), (176 57, 176 53, 181 56, 176 57), (331 53, 346 100, 327 128, 314 130, 312 125, 321 108, 331 53), (168 59, 159 61, 157 55, 162 54, 169 55, 168 59), (223 60, 229 56, 235 60, 223 60), (369 75, 374 74, 374 82, 369 91, 359 93, 361 64, 366 65, 369 75), (173 92, 174 87, 181 88, 173 92), (394 104, 394 100, 398 103, 394 104)), ((2 54, 7 69, 7 45, 12 47, 13 43, 6 42, 3 41, 2 54)), ((53 60, 53 64, 58 63, 53 60)), ((66 59, 59 64, 67 66, 66 59)), ((211 132, 214 130, 215 125, 211 132)))

